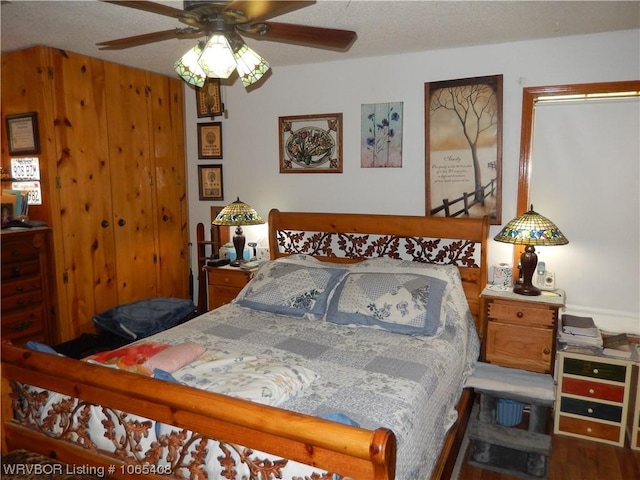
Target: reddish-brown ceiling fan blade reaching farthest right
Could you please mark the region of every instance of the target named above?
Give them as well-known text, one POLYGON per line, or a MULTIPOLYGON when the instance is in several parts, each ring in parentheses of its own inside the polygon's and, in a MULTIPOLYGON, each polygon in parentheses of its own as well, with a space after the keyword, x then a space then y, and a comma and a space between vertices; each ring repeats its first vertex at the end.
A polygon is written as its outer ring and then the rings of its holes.
POLYGON ((290 23, 263 22, 250 25, 240 31, 257 40, 271 40, 290 42, 309 47, 333 48, 345 50, 356 40, 356 32, 350 30, 336 30, 333 28, 311 27, 308 25, 294 25, 290 23))

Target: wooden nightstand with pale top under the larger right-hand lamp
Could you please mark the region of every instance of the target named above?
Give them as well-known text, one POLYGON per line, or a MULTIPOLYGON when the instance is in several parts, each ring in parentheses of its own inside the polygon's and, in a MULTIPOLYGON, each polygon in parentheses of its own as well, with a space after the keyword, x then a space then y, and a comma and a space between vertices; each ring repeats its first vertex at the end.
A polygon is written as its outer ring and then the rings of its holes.
POLYGON ((527 297, 485 288, 480 296, 482 359, 503 367, 552 373, 558 311, 564 295, 527 297))

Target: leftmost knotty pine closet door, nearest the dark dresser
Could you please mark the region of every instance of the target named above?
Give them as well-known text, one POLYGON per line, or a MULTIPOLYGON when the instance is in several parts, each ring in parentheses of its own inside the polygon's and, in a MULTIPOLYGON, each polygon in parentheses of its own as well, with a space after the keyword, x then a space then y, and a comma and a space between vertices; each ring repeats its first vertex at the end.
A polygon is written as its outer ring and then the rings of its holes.
MULTIPOLYGON (((93 331, 118 304, 104 62, 52 49, 59 219, 60 334, 93 331)), ((54 160, 54 159, 52 159, 54 160)))

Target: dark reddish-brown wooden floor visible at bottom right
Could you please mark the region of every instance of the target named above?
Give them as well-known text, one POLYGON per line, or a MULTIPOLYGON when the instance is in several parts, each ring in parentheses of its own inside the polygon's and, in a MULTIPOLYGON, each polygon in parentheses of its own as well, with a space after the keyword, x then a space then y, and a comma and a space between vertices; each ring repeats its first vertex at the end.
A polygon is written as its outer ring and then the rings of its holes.
MULTIPOLYGON (((462 464, 458 480, 517 480, 520 477, 462 464)), ((548 480, 639 480, 640 451, 554 435, 548 480)))

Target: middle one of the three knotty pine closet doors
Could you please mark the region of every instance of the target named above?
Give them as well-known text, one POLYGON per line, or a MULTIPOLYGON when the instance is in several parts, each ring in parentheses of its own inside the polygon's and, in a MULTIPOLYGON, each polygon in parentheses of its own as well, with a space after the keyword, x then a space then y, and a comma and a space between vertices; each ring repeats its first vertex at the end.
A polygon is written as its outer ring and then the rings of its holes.
POLYGON ((105 63, 118 303, 157 293, 147 73, 105 63))

